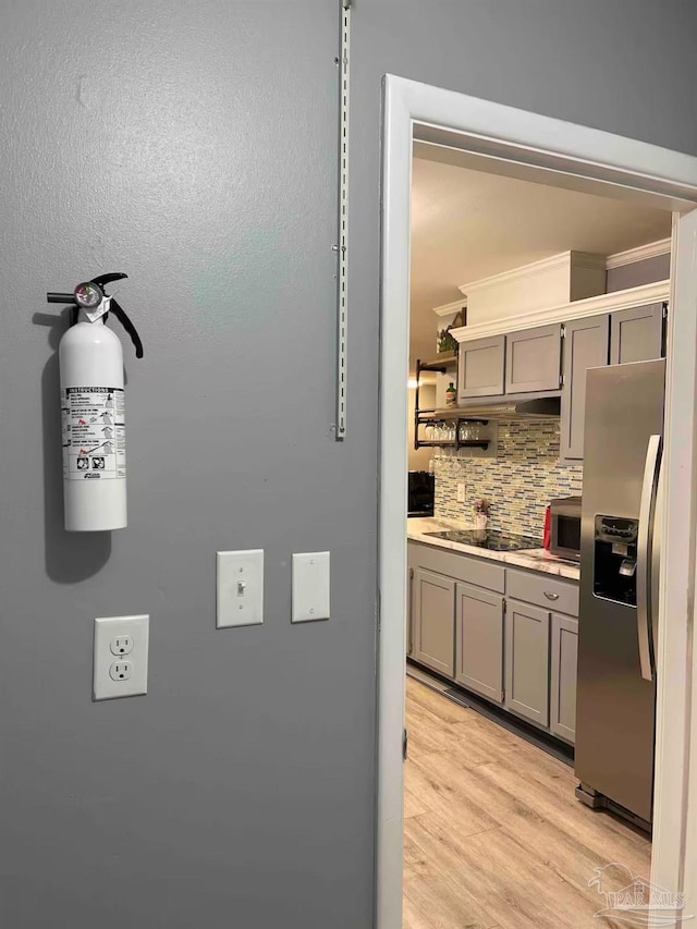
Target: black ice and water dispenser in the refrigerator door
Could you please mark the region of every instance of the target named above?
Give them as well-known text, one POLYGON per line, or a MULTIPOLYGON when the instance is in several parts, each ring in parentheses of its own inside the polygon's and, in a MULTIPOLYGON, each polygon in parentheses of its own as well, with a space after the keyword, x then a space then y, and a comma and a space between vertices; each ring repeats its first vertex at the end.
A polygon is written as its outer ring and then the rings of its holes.
POLYGON ((636 607, 638 519, 596 516, 592 590, 596 597, 636 607))

